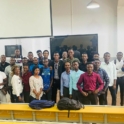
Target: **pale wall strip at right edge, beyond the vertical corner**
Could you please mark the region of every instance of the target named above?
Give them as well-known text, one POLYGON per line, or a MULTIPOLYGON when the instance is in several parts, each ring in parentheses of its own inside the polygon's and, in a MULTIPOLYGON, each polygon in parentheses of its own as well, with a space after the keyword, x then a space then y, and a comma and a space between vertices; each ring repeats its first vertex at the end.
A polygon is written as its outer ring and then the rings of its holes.
POLYGON ((117 19, 117 51, 124 53, 124 0, 118 0, 117 19))

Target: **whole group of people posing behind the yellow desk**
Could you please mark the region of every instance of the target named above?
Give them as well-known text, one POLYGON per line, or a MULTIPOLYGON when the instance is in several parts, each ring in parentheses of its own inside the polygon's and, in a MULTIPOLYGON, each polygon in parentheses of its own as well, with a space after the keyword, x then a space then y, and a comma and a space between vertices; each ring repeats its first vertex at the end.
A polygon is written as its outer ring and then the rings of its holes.
POLYGON ((124 104, 124 62, 123 53, 118 52, 114 61, 110 62, 110 53, 104 53, 104 62, 99 54, 94 53, 88 62, 88 54, 75 58, 74 50, 54 52, 53 60, 48 59, 49 51, 37 51, 38 57, 32 52, 28 58, 20 55, 19 49, 15 56, 6 62, 5 55, 0 63, 0 101, 6 102, 3 88, 8 87, 11 102, 29 103, 37 100, 57 100, 68 97, 79 100, 85 105, 107 105, 107 91, 112 97, 112 105, 116 105, 116 94, 120 86, 120 105, 124 104))

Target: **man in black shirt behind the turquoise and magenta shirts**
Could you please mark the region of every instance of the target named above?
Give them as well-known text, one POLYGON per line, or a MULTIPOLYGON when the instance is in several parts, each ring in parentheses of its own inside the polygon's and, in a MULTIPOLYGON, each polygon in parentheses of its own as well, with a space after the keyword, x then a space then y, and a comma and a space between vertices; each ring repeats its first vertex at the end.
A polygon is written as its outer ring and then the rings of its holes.
POLYGON ((80 63, 80 70, 82 70, 82 71, 84 71, 84 72, 86 72, 87 71, 87 68, 86 68, 86 66, 87 66, 87 61, 88 60, 88 55, 87 55, 87 53, 82 53, 82 60, 81 60, 81 63, 80 63))

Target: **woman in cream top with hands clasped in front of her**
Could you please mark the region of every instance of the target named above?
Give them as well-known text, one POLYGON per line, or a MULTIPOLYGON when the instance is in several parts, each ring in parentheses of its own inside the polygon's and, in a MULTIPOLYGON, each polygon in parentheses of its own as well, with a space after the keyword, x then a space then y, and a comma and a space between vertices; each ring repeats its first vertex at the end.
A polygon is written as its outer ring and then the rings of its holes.
POLYGON ((43 99, 43 80, 41 76, 39 76, 39 73, 40 69, 38 67, 34 67, 33 76, 29 79, 30 101, 43 99))

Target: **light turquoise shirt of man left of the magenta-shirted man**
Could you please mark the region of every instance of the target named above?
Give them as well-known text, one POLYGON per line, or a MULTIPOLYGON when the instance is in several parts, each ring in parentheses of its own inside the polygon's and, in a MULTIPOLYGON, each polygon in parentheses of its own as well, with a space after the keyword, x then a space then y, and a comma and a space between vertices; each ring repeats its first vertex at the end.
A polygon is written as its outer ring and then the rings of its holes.
POLYGON ((78 90, 77 89, 77 82, 80 78, 80 75, 83 74, 84 72, 81 70, 78 71, 72 71, 70 74, 70 83, 69 83, 69 94, 72 94, 72 89, 78 90))

